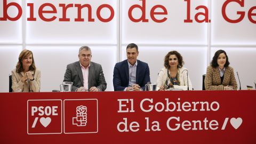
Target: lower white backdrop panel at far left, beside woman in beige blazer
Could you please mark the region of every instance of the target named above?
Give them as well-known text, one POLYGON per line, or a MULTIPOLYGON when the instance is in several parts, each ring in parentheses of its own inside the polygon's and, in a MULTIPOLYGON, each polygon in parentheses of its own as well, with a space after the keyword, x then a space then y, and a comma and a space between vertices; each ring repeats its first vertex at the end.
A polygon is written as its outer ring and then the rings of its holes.
POLYGON ((0 83, 0 92, 9 92, 9 74, 16 68, 19 61, 19 54, 22 51, 22 46, 0 45, 0 61, 2 83, 0 83))

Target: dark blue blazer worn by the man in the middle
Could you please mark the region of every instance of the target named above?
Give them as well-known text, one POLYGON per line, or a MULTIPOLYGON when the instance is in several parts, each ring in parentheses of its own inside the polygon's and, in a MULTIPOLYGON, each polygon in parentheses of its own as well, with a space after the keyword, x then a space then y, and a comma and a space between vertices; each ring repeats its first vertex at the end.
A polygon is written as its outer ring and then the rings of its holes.
MULTIPOLYGON (((145 91, 145 85, 150 82, 148 63, 137 60, 136 84, 145 91)), ((129 86, 129 66, 127 59, 118 62, 114 68, 113 75, 114 91, 124 91, 129 86)))

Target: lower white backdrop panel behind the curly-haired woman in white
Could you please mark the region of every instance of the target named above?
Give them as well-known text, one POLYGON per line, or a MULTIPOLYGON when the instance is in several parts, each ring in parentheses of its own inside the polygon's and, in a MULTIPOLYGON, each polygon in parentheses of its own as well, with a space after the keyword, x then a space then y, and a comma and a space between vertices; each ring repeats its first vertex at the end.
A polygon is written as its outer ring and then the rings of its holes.
MULTIPOLYGON (((207 47, 183 47, 183 46, 143 46, 138 45, 139 56, 137 59, 148 63, 151 82, 156 82, 158 71, 164 68, 164 57, 172 50, 178 51, 188 69, 190 81, 194 90, 202 90, 203 77, 207 68, 207 47)), ((122 46, 121 60, 127 59, 126 46, 122 46)))

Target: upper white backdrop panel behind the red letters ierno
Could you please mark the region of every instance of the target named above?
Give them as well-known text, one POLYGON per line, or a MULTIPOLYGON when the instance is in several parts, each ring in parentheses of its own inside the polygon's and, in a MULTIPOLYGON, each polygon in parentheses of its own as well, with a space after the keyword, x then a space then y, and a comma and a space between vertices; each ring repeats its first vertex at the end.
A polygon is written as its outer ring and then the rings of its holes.
MULTIPOLYGON (((114 0, 76 0, 76 1, 41 1, 41 0, 29 0, 26 3, 34 3, 34 17, 36 21, 26 21, 26 44, 38 44, 38 43, 51 43, 51 44, 117 44, 117 23, 118 23, 118 1, 114 0), (46 22, 39 18, 38 9, 44 3, 53 4, 56 9, 56 14, 46 13, 43 14, 45 18, 57 19, 46 22), (59 4, 90 4, 92 7, 92 18, 94 22, 88 21, 88 9, 84 7, 82 9, 82 18, 84 21, 75 21, 77 18, 77 7, 69 7, 67 9, 67 18, 70 21, 59 21, 62 18, 62 7, 59 4), (101 22, 97 18, 97 9, 102 4, 108 4, 113 7, 115 16, 109 22, 101 22)), ((50 6, 44 7, 43 10, 52 10, 50 6)), ((26 7, 26 15, 29 17, 30 7, 26 7)), ((101 10, 101 17, 107 19, 110 17, 110 10, 103 8, 101 10)))

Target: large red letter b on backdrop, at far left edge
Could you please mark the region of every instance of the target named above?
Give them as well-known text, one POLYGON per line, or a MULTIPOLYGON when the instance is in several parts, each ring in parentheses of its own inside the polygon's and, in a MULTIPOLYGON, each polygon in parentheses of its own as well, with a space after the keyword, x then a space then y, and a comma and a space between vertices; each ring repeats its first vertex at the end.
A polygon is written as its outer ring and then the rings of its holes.
POLYGON ((8 20, 11 20, 11 21, 17 21, 17 20, 20 19, 21 15, 22 15, 22 9, 21 9, 21 6, 18 3, 9 3, 9 4, 7 4, 6 0, 3 0, 3 18, 0 18, 0 20, 7 21, 7 19, 8 19, 8 20), (9 15, 7 13, 7 10, 10 6, 15 6, 18 9, 18 14, 15 18, 9 17, 9 15))

